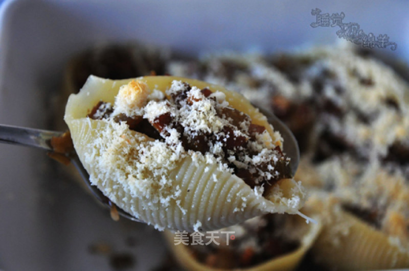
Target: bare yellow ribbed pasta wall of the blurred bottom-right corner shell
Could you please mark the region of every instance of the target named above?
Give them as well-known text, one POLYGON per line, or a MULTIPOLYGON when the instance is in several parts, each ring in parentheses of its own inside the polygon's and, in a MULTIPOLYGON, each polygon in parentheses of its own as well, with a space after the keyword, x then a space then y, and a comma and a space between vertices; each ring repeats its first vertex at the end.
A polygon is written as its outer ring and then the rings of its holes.
POLYGON ((334 236, 331 230, 337 225, 325 226, 312 247, 317 260, 340 270, 409 267, 409 251, 393 238, 345 211, 338 215, 345 232, 334 236), (338 239, 335 243, 331 242, 334 238, 338 239))

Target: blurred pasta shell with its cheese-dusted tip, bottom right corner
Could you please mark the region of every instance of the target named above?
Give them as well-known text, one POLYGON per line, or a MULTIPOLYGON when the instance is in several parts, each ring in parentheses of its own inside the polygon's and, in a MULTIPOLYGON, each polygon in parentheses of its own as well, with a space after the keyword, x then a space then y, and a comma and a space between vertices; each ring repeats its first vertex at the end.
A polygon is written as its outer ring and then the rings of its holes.
POLYGON ((306 207, 312 208, 313 213, 320 213, 323 223, 322 231, 311 248, 317 263, 336 266, 339 270, 409 266, 409 250, 398 238, 345 211, 338 200, 323 199, 316 201, 312 198, 306 207))

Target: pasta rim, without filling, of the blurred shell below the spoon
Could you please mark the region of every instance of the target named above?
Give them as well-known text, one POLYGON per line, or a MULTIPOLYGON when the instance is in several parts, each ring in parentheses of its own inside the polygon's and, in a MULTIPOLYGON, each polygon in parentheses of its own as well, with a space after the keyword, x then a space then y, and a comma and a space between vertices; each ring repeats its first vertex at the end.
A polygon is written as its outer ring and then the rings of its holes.
MULTIPOLYGON (((308 214, 308 213, 307 213, 308 214)), ((317 217, 313 217, 317 219, 317 217)), ((265 262, 262 262, 258 265, 242 268, 240 270, 252 270, 252 271, 274 271, 274 270, 293 270, 298 266, 298 264, 303 259, 306 252, 311 248, 311 245, 319 235, 321 231, 321 223, 318 224, 306 224, 305 219, 302 217, 297 217, 298 224, 301 227, 306 227, 305 234, 301 238, 300 247, 296 250, 281 255, 277 258, 269 259, 265 262)), ((274 230, 274 229, 271 229, 274 230)), ((173 256, 176 258, 177 262, 186 268, 187 270, 192 271, 218 271, 218 270, 225 270, 220 268, 212 268, 204 263, 198 262, 197 259, 193 255, 193 251, 189 249, 189 245, 185 245, 183 243, 175 244, 175 234, 169 231, 165 231, 165 238, 168 242, 168 247, 170 248, 173 256)), ((239 259, 234 259, 234 261, 238 261, 239 259)))

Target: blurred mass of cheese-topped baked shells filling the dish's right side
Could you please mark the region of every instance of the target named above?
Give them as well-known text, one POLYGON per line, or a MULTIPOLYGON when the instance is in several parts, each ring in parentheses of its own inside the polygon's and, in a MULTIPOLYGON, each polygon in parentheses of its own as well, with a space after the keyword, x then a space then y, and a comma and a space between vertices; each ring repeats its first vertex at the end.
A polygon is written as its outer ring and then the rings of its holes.
POLYGON ((317 263, 409 267, 409 87, 394 70, 370 51, 331 46, 173 61, 168 72, 236 89, 289 126, 296 178, 323 226, 309 254, 317 263))

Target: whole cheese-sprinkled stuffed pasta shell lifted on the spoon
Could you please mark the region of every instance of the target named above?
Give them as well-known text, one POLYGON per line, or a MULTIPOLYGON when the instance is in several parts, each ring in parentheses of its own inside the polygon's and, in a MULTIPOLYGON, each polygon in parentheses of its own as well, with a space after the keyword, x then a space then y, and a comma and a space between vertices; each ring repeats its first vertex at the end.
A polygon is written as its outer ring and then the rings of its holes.
POLYGON ((156 229, 219 229, 304 203, 280 134, 223 87, 91 76, 64 120, 90 182, 156 229))

